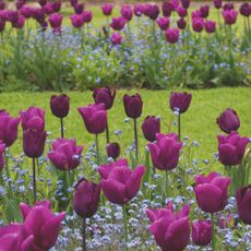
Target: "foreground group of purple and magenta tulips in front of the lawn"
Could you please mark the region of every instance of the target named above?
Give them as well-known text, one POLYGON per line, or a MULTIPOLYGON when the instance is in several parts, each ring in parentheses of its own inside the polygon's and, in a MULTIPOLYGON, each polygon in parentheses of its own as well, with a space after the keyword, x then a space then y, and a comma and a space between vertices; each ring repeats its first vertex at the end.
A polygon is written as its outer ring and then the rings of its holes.
MULTIPOLYGON (((80 107, 79 112, 83 118, 86 130, 95 135, 99 182, 96 183, 86 178, 80 179, 75 184, 72 203, 75 213, 83 218, 83 250, 86 250, 86 218, 92 217, 97 212, 99 200, 104 203, 105 198, 110 203, 122 207, 123 236, 127 244, 129 235, 127 206, 140 191, 142 179, 147 171, 146 167, 138 165, 140 160, 138 119, 141 117, 143 109, 143 100, 140 94, 131 96, 125 94, 123 96, 124 111, 134 121, 134 168, 129 166, 127 159, 117 159, 120 156, 119 144, 110 143, 108 110, 112 108, 116 91, 109 87, 96 88, 93 97, 94 104, 80 107), (113 159, 109 163, 103 162, 98 147, 98 135, 105 131, 107 156, 113 159)), ((174 176, 170 176, 170 174, 179 168, 178 163, 182 148, 181 115, 188 110, 191 99, 192 95, 189 93, 174 92, 170 94, 170 109, 178 115, 178 135, 176 133, 162 133, 160 119, 157 117, 147 116, 142 123, 143 135, 150 142, 147 148, 154 167, 151 172, 153 175, 157 170, 159 174, 165 172, 164 205, 165 198, 171 194, 169 183, 174 183, 174 176)), ((50 108, 52 113, 61 121, 61 138, 52 142, 51 151, 47 156, 53 167, 60 171, 70 172, 80 165, 83 152, 83 146, 77 146, 75 140, 63 138, 63 119, 70 110, 70 98, 65 94, 52 96, 50 108)), ((19 118, 12 118, 5 110, 0 111, 0 170, 3 171, 3 168, 5 168, 7 176, 11 177, 8 167, 8 151, 17 138, 20 122, 23 128, 24 154, 33 159, 34 203, 33 206, 24 203, 20 204, 23 224, 11 223, 0 228, 0 249, 4 251, 49 250, 57 241, 65 213, 55 215, 51 212, 49 201, 37 202, 35 164, 36 159, 43 155, 47 136, 45 111, 41 108, 29 107, 27 110, 21 111, 19 118)), ((151 222, 148 230, 153 234, 162 250, 183 250, 190 242, 190 236, 194 244, 203 247, 212 242, 213 250, 216 250, 215 214, 223 211, 227 205, 228 188, 230 188, 231 195, 236 195, 240 219, 244 224, 251 224, 250 167, 247 167, 243 160, 249 139, 238 134, 240 120, 237 112, 230 108, 217 118, 217 123, 227 133, 227 135, 218 136, 218 159, 226 166, 225 170, 228 175, 222 176, 214 171, 207 176, 198 175, 194 184, 196 203, 203 212, 211 214, 211 219, 200 218, 193 222, 191 227, 190 205, 184 205, 178 212, 175 212, 170 202, 164 208, 147 208, 146 215, 151 222)), ((8 196, 14 196, 10 182, 8 196)))

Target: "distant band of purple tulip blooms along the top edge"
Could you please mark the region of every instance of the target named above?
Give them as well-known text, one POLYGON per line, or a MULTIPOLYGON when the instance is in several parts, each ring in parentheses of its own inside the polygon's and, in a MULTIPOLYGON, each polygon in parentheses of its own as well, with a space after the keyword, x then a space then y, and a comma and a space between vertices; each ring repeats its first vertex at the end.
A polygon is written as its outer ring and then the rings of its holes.
MULTIPOLYGON (((48 23, 55 33, 60 33, 63 15, 60 14, 61 1, 47 2, 47 0, 39 0, 40 8, 31 8, 25 4, 25 0, 16 1, 16 11, 4 10, 4 2, 0 1, 0 32, 4 29, 5 22, 10 22, 12 27, 22 28, 25 24, 25 20, 35 19, 40 27, 45 31, 48 27, 48 23)), ((72 26, 80 29, 84 25, 88 25, 92 22, 93 13, 84 8, 83 2, 77 0, 70 0, 70 3, 74 10, 74 14, 70 16, 72 26)), ((166 33, 166 39, 170 44, 177 43, 179 39, 180 31, 183 31, 189 25, 189 9, 190 0, 171 0, 164 1, 162 4, 163 16, 160 16, 160 8, 157 4, 150 3, 136 3, 135 5, 122 5, 120 9, 121 16, 113 17, 110 22, 109 16, 112 14, 113 4, 106 3, 101 7, 103 14, 107 16, 107 26, 103 27, 104 34, 109 36, 109 27, 116 33, 110 35, 110 40, 113 45, 122 43, 122 35, 118 33, 124 28, 125 25, 130 26, 130 22, 135 15, 140 17, 142 15, 147 16, 159 26, 162 31, 166 33), (177 13, 179 19, 176 26, 170 27, 170 16, 172 13, 177 13)), ((236 23, 238 11, 235 10, 232 3, 223 4, 222 0, 214 0, 214 7, 218 10, 218 26, 220 25, 220 12, 224 22, 227 26, 231 26, 236 23), (220 11, 222 10, 222 11, 220 11)), ((240 5, 239 12, 244 16, 244 27, 250 33, 249 16, 251 14, 251 4, 249 2, 240 5)), ((205 31, 208 34, 215 33, 216 22, 208 20, 210 5, 201 5, 198 10, 191 14, 191 26, 195 33, 205 31)))

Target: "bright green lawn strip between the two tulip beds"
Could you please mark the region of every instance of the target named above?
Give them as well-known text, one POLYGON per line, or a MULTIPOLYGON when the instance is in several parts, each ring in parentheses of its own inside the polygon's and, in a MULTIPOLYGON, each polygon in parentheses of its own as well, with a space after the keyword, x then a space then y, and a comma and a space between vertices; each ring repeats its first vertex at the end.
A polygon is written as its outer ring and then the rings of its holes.
MULTIPOLYGON (((123 111, 122 96, 125 93, 134 94, 139 92, 144 100, 143 116, 139 119, 139 128, 147 115, 162 116, 162 131, 176 132, 176 125, 170 125, 171 120, 176 119, 168 105, 168 91, 146 91, 146 89, 120 89, 118 91, 115 106, 109 111, 109 128, 111 141, 118 141, 117 135, 112 134, 115 130, 122 130, 120 144, 122 152, 131 144, 133 140, 132 121, 124 122, 125 115, 123 111)), ((251 88, 217 88, 207 91, 192 91, 193 98, 190 109, 182 115, 182 135, 200 143, 199 148, 194 148, 193 156, 198 159, 213 159, 213 153, 217 152, 217 134, 220 133, 217 124, 217 116, 227 107, 236 109, 240 117, 241 135, 250 135, 251 128, 251 88)), ((49 108, 49 99, 52 93, 10 93, 0 94, 0 108, 7 109, 12 116, 17 116, 19 111, 26 109, 28 106, 39 106, 46 110, 46 130, 52 134, 49 139, 60 135, 59 120, 52 117, 49 108)), ((93 103, 92 92, 84 93, 70 92, 71 112, 65 119, 65 138, 75 138, 79 144, 87 147, 94 141, 94 135, 86 132, 82 118, 76 110, 80 106, 86 106, 93 103)), ((141 153, 144 150, 146 141, 143 139, 140 129, 141 153)), ((105 133, 99 136, 100 146, 105 146, 105 133)), ((21 130, 19 141, 13 145, 13 152, 17 154, 22 150, 21 130)), ((143 154, 142 154, 143 157, 143 154)))

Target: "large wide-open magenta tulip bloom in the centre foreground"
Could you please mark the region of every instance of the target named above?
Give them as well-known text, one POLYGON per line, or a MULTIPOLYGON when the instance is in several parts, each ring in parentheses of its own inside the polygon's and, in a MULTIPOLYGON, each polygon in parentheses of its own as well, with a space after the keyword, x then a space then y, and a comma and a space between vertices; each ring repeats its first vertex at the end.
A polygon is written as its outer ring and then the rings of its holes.
POLYGON ((139 192, 144 171, 143 166, 132 170, 127 159, 103 165, 98 168, 103 192, 111 203, 123 205, 139 192))

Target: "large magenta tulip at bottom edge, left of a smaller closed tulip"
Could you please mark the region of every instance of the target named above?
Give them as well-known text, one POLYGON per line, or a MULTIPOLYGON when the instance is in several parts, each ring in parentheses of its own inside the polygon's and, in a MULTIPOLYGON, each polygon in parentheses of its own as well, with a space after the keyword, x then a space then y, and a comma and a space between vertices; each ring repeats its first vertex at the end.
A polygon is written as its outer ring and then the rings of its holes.
POLYGON ((146 210, 152 222, 148 230, 154 235, 162 250, 184 250, 189 244, 190 225, 189 206, 184 206, 178 213, 174 212, 171 203, 167 208, 146 210))

